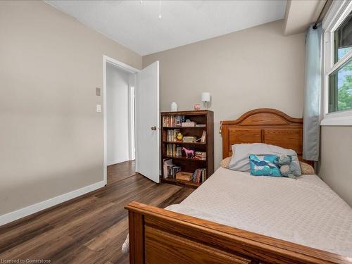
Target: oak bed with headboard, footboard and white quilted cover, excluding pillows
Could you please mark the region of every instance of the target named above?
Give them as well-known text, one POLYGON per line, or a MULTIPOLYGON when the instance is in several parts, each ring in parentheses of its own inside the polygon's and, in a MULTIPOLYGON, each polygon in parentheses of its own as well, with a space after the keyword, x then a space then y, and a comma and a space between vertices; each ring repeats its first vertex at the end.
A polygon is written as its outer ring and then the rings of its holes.
MULTIPOLYGON (((262 142, 301 158, 302 130, 300 118, 249 111, 222 122, 222 156, 232 155, 232 144, 262 142)), ((352 263, 352 209, 316 175, 219 168, 179 205, 125 208, 130 263, 352 263)))

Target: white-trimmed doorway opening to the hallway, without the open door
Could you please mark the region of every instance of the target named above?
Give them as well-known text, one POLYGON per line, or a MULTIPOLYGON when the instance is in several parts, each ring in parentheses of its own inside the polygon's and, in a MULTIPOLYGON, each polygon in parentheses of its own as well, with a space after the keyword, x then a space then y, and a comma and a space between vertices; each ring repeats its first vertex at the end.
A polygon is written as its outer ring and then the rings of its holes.
POLYGON ((103 56, 104 182, 108 166, 134 165, 134 87, 139 70, 103 56))

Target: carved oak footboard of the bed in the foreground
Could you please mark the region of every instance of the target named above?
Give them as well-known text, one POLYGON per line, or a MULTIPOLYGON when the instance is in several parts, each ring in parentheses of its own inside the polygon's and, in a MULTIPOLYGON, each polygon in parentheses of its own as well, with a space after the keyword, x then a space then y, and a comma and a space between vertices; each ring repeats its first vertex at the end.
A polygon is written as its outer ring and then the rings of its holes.
POLYGON ((132 202, 130 263, 352 263, 351 258, 132 202))

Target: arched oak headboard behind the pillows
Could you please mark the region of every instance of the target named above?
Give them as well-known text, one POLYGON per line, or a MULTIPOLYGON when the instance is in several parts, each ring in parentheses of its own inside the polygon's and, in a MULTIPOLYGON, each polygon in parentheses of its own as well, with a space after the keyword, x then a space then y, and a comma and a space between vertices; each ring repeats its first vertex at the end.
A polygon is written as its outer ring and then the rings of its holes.
POLYGON ((233 121, 222 121, 222 158, 232 156, 231 146, 266 143, 296 151, 302 160, 303 118, 291 118, 281 111, 259 108, 233 121))

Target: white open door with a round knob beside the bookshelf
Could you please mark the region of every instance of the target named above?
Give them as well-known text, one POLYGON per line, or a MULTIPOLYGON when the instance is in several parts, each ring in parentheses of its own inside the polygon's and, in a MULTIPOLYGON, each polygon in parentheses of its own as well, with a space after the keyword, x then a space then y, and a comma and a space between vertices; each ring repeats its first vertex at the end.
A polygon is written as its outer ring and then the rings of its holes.
POLYGON ((137 73, 135 89, 136 172, 159 182, 159 62, 137 73))

